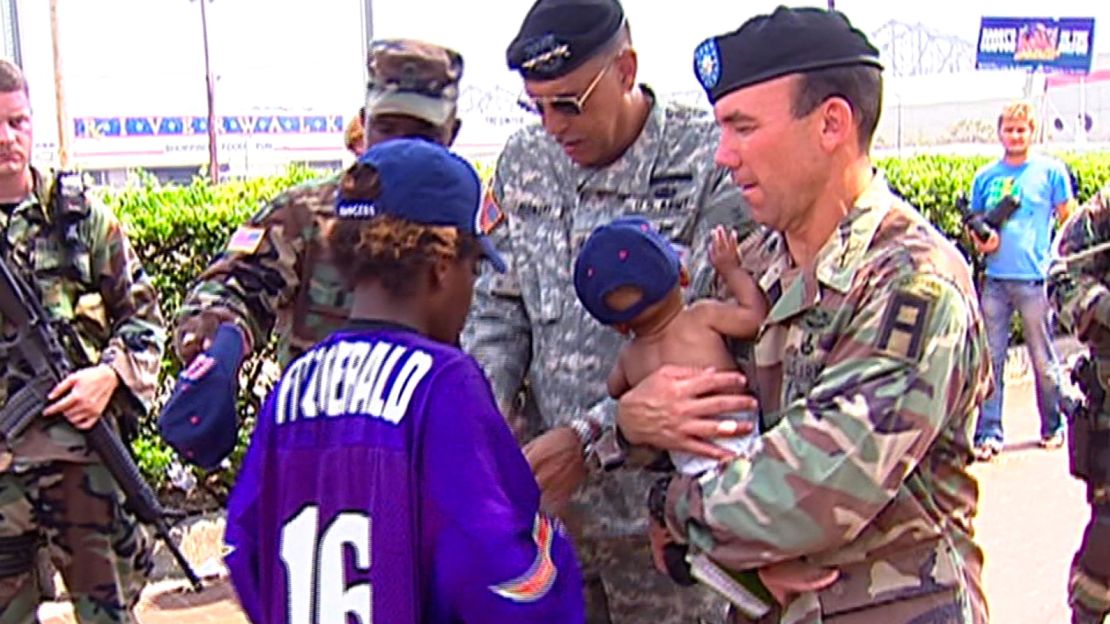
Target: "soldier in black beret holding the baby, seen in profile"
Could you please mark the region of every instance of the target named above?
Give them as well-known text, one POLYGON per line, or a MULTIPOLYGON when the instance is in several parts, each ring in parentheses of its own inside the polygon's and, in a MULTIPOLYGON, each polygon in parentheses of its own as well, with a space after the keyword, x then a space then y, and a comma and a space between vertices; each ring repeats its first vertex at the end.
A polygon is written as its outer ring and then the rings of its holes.
MULTIPOLYGON (((717 160, 766 227, 740 245, 771 306, 753 380, 764 433, 750 455, 653 486, 656 548, 838 573, 760 622, 986 622, 968 472, 990 389, 982 319, 960 253, 872 169, 878 50, 838 12, 780 7, 702 43, 695 68, 717 160)), ((654 376, 620 402, 633 443, 663 445, 644 407, 683 394, 654 376)))

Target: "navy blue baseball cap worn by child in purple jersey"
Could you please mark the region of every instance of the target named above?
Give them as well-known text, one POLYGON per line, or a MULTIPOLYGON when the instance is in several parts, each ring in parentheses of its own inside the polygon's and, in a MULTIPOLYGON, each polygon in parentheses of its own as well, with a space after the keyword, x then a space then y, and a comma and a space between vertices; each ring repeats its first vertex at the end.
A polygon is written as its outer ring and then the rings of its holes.
POLYGON ((392 139, 373 145, 359 158, 377 171, 377 197, 336 201, 341 219, 371 219, 390 214, 423 223, 448 225, 474 234, 482 254, 498 272, 505 260, 486 236, 501 220, 496 204, 482 202, 482 182, 471 163, 438 143, 423 139, 392 139))

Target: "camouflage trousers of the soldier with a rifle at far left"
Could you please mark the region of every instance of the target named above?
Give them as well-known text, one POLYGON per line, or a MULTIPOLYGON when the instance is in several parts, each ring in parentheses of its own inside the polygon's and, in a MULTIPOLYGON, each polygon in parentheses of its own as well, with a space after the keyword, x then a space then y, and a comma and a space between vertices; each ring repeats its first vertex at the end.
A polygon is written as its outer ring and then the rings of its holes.
MULTIPOLYGON (((51 462, 0 473, 0 537, 40 532, 82 624, 134 622, 150 540, 101 464, 51 462)), ((36 572, 0 578, 0 624, 37 622, 36 572)))

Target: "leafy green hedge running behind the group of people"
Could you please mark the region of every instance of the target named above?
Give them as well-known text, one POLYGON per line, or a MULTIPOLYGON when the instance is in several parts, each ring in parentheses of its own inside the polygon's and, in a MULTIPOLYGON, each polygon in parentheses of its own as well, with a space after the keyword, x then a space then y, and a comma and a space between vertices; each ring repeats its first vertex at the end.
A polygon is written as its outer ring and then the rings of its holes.
MULTIPOLYGON (((1079 174, 1080 200, 1086 201, 1100 184, 1110 181, 1110 154, 1059 154, 1079 174)), ((894 189, 916 205, 950 238, 959 240, 960 218, 952 205, 958 193, 970 189, 978 168, 989 162, 986 157, 918 155, 906 159, 881 159, 894 189)), ((490 168, 480 164, 488 174, 490 168)), ((210 187, 196 179, 188 187, 159 185, 150 177, 122 190, 105 191, 104 199, 123 221, 132 243, 161 293, 162 311, 172 318, 191 280, 208 265, 222 248, 232 230, 258 208, 282 190, 306 181, 319 172, 291 168, 284 174, 249 181, 234 181, 210 187)), ((170 354, 163 361, 162 394, 168 395, 178 372, 170 354)), ((246 423, 245 439, 261 400, 278 374, 272 359, 272 345, 260 356, 248 361, 243 369, 240 410, 246 423)), ((159 440, 154 416, 147 420, 143 435, 133 444, 147 476, 164 485, 165 470, 172 453, 159 440)), ((232 457, 238 465, 240 450, 232 457)), ((208 504, 222 501, 234 471, 201 476, 208 504)))

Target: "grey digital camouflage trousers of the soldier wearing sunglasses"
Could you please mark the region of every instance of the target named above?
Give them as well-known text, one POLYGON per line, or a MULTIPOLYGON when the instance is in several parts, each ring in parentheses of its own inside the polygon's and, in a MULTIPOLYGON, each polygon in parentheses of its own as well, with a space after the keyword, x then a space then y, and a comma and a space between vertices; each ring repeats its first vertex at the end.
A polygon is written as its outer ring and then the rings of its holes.
POLYGON ((578 540, 586 624, 722 624, 728 603, 655 570, 647 535, 578 540))

